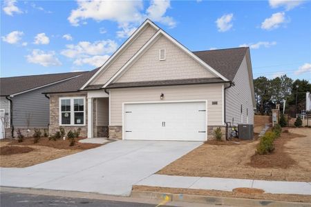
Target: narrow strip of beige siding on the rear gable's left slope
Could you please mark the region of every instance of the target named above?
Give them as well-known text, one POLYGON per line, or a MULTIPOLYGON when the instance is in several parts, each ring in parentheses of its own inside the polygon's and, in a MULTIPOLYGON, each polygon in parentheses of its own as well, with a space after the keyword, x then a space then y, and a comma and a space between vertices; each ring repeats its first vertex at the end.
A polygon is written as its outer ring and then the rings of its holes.
POLYGON ((117 72, 117 70, 120 70, 124 63, 126 63, 126 61, 128 61, 155 33, 155 28, 153 28, 152 26, 146 26, 146 28, 142 30, 138 37, 132 39, 131 43, 129 43, 129 46, 127 46, 127 48, 124 48, 123 51, 120 52, 119 55, 117 55, 115 60, 112 61, 109 66, 106 66, 106 68, 104 68, 104 70, 101 72, 100 75, 97 76, 96 79, 91 81, 90 85, 104 85, 104 83, 106 83, 106 81, 108 81, 113 75, 115 75, 115 72, 117 72))

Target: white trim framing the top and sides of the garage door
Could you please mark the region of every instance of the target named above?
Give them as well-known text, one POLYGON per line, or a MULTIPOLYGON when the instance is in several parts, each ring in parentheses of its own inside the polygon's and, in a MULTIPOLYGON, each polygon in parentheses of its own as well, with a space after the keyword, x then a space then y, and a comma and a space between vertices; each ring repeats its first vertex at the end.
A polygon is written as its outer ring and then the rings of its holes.
MULTIPOLYGON (((122 102, 122 140, 124 140, 124 105, 125 104, 144 104, 144 103, 191 103, 191 102, 205 102, 205 141, 207 141, 207 99, 196 99, 196 100, 178 100, 178 101, 137 101, 137 102, 122 102)), ((110 121, 110 120, 109 120, 110 121)), ((110 124, 109 124, 110 125, 110 124)))

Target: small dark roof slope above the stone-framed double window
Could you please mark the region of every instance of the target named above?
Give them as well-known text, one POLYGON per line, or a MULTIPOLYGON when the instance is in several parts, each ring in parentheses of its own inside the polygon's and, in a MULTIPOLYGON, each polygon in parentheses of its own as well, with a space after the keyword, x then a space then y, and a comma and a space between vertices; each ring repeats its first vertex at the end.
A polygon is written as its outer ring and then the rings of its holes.
POLYGON ((91 79, 91 77, 98 71, 100 68, 95 68, 94 70, 84 72, 84 74, 76 77, 74 79, 70 79, 68 81, 64 81, 63 83, 59 83, 54 87, 48 88, 44 91, 44 94, 48 93, 57 93, 57 92, 77 92, 79 89, 91 79))

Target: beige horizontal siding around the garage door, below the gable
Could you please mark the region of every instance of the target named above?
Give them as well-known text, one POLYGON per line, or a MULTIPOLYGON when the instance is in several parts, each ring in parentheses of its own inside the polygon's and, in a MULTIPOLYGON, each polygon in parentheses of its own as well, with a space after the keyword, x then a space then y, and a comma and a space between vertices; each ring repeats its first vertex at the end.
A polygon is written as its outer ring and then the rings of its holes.
POLYGON ((144 88, 118 88, 110 90, 111 126, 122 126, 122 103, 161 101, 207 100, 207 126, 223 125, 222 84, 202 84, 188 86, 161 86, 144 88), (211 105, 218 101, 218 105, 211 105))

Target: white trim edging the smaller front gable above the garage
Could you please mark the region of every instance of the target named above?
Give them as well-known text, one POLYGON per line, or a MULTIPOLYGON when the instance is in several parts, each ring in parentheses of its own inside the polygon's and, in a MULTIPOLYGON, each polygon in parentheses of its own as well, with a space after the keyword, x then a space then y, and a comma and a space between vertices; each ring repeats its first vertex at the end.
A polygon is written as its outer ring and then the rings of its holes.
POLYGON ((147 43, 144 44, 144 46, 142 46, 142 48, 140 48, 140 50, 138 50, 138 52, 135 53, 135 55, 133 55, 133 57, 131 57, 131 59, 129 59, 129 61, 127 61, 124 66, 122 66, 122 68, 120 70, 118 70, 115 75, 113 75, 113 77, 111 77, 109 79, 109 81, 107 81, 104 86, 102 88, 106 88, 106 86, 108 86, 113 80, 115 80, 124 70, 126 70, 126 68, 139 56, 142 54, 142 52, 144 52, 144 50, 151 46, 151 43, 160 35, 164 35, 164 37, 167 37, 167 39, 171 40, 173 43, 176 44, 176 46, 178 46, 180 49, 184 50, 190 57, 192 57, 195 61, 198 61, 198 63, 200 63, 203 67, 205 67, 207 70, 209 70, 209 72, 213 73, 214 75, 216 75, 217 77, 220 77, 221 79, 223 79, 224 81, 229 81, 228 79, 226 79, 225 77, 223 77, 223 75, 220 75, 219 72, 217 72, 214 68, 211 68, 211 66, 209 66, 207 63, 205 63, 205 61, 202 61, 202 59, 200 59, 199 57, 197 57, 196 55, 194 55, 194 53, 192 53, 190 50, 188 50, 187 48, 185 48, 185 46, 182 46, 181 43, 179 43, 178 41, 176 41, 176 39, 173 39, 173 37, 169 36, 169 34, 167 34, 166 32, 164 32, 163 30, 158 30, 158 32, 156 32, 156 34, 153 34, 153 36, 149 39, 149 41, 147 41, 147 43))

